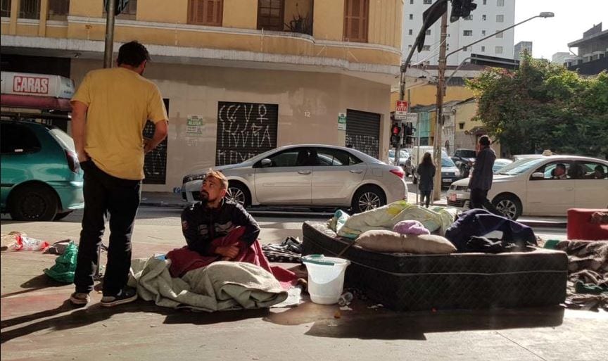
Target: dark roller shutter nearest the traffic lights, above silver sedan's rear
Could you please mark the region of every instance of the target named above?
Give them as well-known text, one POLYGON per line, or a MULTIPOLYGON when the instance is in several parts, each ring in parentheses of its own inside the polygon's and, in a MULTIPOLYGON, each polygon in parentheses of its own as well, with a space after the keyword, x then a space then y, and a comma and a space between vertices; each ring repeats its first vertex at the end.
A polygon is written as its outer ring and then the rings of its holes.
POLYGON ((380 115, 346 110, 346 146, 351 146, 374 158, 380 151, 380 115))

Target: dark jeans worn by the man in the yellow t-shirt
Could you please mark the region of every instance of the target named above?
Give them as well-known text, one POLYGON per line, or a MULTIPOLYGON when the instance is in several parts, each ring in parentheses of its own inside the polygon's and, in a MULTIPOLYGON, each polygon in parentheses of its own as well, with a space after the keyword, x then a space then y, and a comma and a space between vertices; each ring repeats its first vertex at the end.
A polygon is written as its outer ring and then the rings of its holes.
POLYGON ((76 292, 93 290, 93 277, 99 267, 97 253, 109 216, 110 244, 103 296, 116 296, 129 279, 131 234, 141 198, 141 180, 113 177, 92 161, 81 163, 81 167, 84 170, 84 215, 74 277, 76 292))

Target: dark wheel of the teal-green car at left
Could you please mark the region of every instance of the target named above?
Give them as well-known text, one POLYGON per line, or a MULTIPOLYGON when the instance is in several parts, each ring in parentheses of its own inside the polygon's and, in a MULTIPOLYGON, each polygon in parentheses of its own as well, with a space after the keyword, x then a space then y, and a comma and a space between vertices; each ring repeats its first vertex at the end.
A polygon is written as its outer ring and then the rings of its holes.
POLYGON ((21 186, 11 194, 9 212, 13 220, 51 221, 57 215, 58 199, 42 184, 21 186))

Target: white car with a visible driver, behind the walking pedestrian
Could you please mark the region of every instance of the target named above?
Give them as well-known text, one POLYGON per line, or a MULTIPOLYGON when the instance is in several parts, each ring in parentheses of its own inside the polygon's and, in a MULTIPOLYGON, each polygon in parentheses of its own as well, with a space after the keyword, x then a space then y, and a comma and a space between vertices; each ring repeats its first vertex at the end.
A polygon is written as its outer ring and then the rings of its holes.
MULTIPOLYGON (((608 208, 607 175, 608 161, 597 158, 521 158, 494 175, 488 199, 512 220, 520 215, 565 216, 569 208, 608 208), (557 178, 559 164, 566 175, 557 178)), ((447 196, 448 205, 468 209, 469 179, 452 183, 447 196)))

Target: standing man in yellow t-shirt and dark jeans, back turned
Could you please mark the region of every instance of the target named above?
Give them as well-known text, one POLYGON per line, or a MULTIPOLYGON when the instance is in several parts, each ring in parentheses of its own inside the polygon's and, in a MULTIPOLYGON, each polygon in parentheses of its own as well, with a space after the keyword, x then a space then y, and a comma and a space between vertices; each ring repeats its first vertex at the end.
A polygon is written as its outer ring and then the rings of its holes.
POLYGON ((72 136, 84 170, 84 215, 74 284, 74 305, 89 303, 97 253, 110 216, 108 264, 101 305, 137 299, 127 286, 131 234, 144 179, 144 154, 167 137, 167 110, 156 85, 144 74, 148 50, 138 42, 120 46, 118 67, 93 70, 72 98, 72 136), (146 120, 156 129, 144 140, 146 120))

